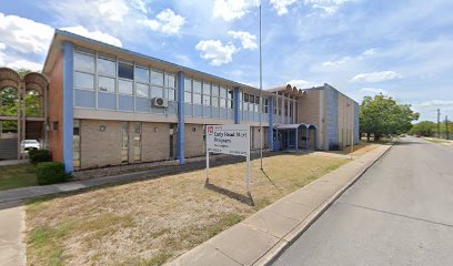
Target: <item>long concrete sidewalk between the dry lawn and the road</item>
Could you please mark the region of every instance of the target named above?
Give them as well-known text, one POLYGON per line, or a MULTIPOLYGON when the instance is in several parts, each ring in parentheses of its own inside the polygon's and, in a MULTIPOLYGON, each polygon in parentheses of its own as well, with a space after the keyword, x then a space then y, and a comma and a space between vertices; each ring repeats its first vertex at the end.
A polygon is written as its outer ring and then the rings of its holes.
POLYGON ((168 265, 269 264, 390 149, 391 145, 384 145, 362 155, 261 209, 168 265))

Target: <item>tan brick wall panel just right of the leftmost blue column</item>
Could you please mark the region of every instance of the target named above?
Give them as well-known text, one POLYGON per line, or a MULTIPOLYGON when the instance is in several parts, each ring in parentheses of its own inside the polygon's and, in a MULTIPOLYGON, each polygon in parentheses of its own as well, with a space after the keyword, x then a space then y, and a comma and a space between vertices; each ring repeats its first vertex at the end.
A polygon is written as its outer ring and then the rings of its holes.
POLYGON ((80 131, 81 168, 121 164, 121 121, 81 120, 80 131))

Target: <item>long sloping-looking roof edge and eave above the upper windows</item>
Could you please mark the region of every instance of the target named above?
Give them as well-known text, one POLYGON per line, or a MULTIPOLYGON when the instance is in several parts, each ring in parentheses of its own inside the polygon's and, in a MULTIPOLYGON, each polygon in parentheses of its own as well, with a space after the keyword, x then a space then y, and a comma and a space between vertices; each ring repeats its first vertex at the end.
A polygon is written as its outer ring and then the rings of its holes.
MULTIPOLYGON (((124 48, 114 47, 114 45, 111 45, 111 44, 108 44, 101 41, 97 41, 97 40, 93 40, 87 37, 82 37, 82 35, 74 34, 72 32, 68 32, 68 31, 63 31, 59 29, 56 29, 56 32, 53 34, 52 42, 50 44, 49 52, 47 54, 44 65, 42 69, 43 74, 48 75, 50 73, 50 71, 52 70, 58 59, 59 53, 62 50, 63 43, 66 41, 72 42, 76 47, 82 47, 82 48, 92 49, 99 52, 110 53, 110 54, 117 55, 125 60, 134 61, 137 63, 152 65, 153 68, 161 68, 161 69, 172 71, 172 72, 183 71, 185 75, 188 76, 193 76, 197 79, 204 79, 204 80, 209 79, 210 81, 214 81, 221 85, 240 88, 249 92, 260 93, 260 89, 248 85, 248 84, 228 80, 221 76, 217 76, 217 75, 213 75, 207 72, 194 70, 194 69, 183 66, 177 63, 168 62, 165 60, 161 60, 161 59, 153 58, 147 54, 134 52, 134 51, 131 51, 124 48)), ((265 90, 262 90, 262 93, 265 96, 275 95, 265 90)))

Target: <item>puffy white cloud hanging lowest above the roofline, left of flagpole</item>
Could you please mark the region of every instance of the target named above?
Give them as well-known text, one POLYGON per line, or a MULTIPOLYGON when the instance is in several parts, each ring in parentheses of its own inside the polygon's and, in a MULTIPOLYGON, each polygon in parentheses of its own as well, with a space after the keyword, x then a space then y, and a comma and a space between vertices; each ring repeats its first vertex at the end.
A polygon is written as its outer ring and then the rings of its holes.
POLYGON ((211 60, 212 65, 221 65, 233 61, 233 53, 238 52, 234 44, 223 45, 219 40, 204 40, 195 45, 201 51, 201 58, 211 60))

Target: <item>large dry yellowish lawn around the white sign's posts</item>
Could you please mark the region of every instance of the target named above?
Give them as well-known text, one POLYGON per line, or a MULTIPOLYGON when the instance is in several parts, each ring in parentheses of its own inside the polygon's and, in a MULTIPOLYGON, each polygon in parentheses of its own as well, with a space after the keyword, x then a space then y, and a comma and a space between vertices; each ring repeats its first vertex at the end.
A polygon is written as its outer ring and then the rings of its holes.
POLYGON ((170 175, 30 202, 29 265, 161 265, 309 184, 349 160, 309 155, 253 161, 254 206, 245 164, 170 175))

